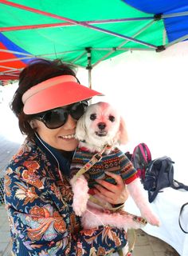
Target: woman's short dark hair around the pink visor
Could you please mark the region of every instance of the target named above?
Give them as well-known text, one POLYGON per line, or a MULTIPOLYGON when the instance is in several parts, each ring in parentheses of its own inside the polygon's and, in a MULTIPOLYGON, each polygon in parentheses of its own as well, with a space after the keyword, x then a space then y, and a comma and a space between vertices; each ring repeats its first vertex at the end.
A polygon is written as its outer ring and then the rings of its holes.
MULTIPOLYGON (((18 90, 16 90, 10 108, 18 117, 18 124, 22 134, 27 135, 29 139, 33 138, 35 130, 29 125, 33 115, 23 112, 22 95, 29 88, 37 85, 40 82, 54 78, 63 74, 69 74, 76 77, 76 67, 65 64, 61 60, 45 60, 37 59, 29 63, 19 75, 18 90)), ((76 78, 77 79, 77 78, 76 78)))

